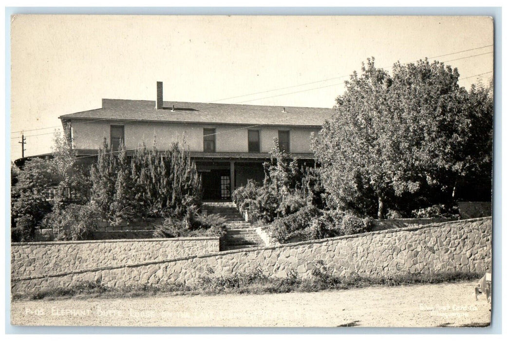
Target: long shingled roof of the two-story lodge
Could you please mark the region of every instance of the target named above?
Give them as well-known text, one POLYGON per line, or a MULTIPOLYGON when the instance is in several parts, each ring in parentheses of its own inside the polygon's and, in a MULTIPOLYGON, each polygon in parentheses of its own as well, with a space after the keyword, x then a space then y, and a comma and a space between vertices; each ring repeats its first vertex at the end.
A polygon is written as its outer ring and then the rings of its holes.
POLYGON ((329 108, 285 107, 283 112, 283 107, 170 101, 164 101, 164 109, 157 110, 153 100, 102 99, 100 109, 62 115, 59 118, 321 126, 332 113, 333 109, 329 108))

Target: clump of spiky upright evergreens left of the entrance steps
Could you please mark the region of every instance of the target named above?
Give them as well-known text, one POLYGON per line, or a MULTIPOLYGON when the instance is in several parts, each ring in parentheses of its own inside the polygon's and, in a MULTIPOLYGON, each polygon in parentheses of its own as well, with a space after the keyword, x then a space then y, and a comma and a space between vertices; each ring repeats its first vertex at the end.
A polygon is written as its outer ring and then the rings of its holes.
POLYGON ((92 201, 110 219, 183 218, 201 202, 201 179, 185 148, 185 142, 164 152, 155 143, 141 145, 130 158, 123 146, 113 152, 104 141, 92 167, 92 201))

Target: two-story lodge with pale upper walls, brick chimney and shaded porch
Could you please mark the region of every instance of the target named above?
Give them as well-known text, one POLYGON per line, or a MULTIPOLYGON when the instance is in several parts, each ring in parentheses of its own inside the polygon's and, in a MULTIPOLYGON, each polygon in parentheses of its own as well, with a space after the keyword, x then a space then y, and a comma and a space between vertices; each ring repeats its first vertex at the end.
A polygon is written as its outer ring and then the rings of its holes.
POLYGON ((162 82, 152 100, 102 99, 102 108, 60 116, 70 126, 79 156, 94 156, 104 138, 113 150, 127 150, 156 137, 159 150, 182 141, 202 176, 203 199, 229 200, 247 179, 264 179, 273 138, 301 160, 313 160, 310 135, 318 132, 333 110, 163 101, 162 82))

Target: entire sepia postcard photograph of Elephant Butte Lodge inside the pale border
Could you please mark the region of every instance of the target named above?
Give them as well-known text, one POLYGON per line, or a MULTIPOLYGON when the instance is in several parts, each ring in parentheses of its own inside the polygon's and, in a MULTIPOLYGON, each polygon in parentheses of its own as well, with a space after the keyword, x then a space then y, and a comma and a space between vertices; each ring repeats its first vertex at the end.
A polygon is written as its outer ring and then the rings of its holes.
POLYGON ((12 326, 490 327, 494 18, 10 20, 12 326))

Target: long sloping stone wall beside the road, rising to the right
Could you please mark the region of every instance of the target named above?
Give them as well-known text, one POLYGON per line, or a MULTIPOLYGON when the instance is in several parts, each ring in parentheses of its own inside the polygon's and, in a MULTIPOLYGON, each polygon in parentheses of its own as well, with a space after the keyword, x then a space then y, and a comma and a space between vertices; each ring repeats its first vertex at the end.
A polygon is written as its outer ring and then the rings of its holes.
POLYGON ((308 278, 318 260, 340 276, 352 272, 363 276, 484 272, 491 268, 491 228, 488 217, 61 273, 49 268, 44 276, 13 278, 12 290, 29 292, 84 280, 114 287, 192 284, 200 276, 227 276, 258 267, 276 277, 285 277, 294 269, 301 278, 308 278))

